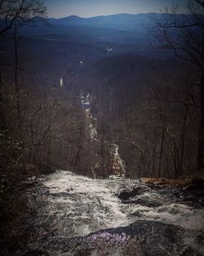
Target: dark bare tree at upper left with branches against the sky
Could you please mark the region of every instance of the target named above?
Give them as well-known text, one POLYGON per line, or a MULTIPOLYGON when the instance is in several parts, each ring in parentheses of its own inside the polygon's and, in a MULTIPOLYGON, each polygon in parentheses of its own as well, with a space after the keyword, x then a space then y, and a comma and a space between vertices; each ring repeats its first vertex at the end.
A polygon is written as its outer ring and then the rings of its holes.
MULTIPOLYGON (((14 68, 15 73, 15 90, 16 90, 16 106, 19 122, 19 132, 21 133, 21 110, 20 110, 20 84, 19 71, 24 70, 20 66, 20 57, 18 51, 19 29, 24 25, 36 25, 38 21, 46 16, 46 5, 43 0, 0 0, 0 37, 13 34, 14 38, 14 63, 4 63, 0 61, 0 67, 7 65, 14 68)), ((1 70, 0 70, 1 73, 1 70)), ((0 75, 0 93, 2 93, 3 85, 0 75)), ((0 97, 0 104, 2 97, 0 97)), ((2 119, 2 110, 0 110, 2 119)), ((3 121, 3 120, 2 120, 3 121)), ((4 122, 5 123, 5 122, 4 122)))

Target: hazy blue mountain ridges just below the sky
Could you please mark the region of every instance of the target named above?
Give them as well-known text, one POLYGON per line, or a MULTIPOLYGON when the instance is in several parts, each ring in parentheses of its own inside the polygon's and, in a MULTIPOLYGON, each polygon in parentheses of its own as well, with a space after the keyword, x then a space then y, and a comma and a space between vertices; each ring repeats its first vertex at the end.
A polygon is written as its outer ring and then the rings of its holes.
MULTIPOLYGON (((85 65, 91 65, 104 56, 121 54, 169 58, 170 52, 155 50, 149 46, 151 34, 144 26, 152 22, 150 16, 153 15, 161 17, 153 13, 92 18, 69 16, 51 18, 45 25, 26 25, 20 29, 22 38, 26 38, 20 42, 21 52, 30 47, 36 56, 49 58, 49 63, 57 62, 55 65, 59 69, 63 69, 64 63, 69 59, 75 60, 77 64, 82 60, 85 65)), ((3 45, 11 48, 11 38, 4 38, 3 45)), ((1 55, 5 62, 9 58, 8 54, 9 52, 1 55)))

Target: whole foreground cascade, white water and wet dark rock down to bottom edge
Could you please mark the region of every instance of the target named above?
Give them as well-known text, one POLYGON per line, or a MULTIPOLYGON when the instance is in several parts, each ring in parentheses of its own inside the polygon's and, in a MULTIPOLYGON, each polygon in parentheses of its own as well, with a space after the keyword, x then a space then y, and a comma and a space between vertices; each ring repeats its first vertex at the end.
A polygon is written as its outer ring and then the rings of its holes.
POLYGON ((57 171, 30 190, 38 254, 18 255, 204 255, 202 205, 176 189, 57 171))

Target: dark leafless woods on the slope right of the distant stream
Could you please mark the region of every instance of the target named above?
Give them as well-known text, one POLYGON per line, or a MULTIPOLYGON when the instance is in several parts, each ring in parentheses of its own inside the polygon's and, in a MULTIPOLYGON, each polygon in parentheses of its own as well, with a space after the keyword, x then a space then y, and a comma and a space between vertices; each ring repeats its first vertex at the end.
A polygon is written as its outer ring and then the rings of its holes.
POLYGON ((197 70, 175 59, 126 55, 98 61, 90 72, 85 90, 93 97, 97 130, 119 145, 127 176, 196 172, 197 70))

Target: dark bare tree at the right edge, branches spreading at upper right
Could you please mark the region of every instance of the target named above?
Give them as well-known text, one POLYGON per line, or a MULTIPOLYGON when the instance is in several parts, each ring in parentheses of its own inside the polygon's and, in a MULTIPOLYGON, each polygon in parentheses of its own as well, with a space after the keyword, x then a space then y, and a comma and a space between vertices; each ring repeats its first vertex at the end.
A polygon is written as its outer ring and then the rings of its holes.
POLYGON ((175 52, 178 58, 200 70, 201 120, 198 135, 197 170, 204 171, 204 1, 187 2, 185 14, 179 8, 166 8, 162 17, 153 16, 154 45, 175 52))

